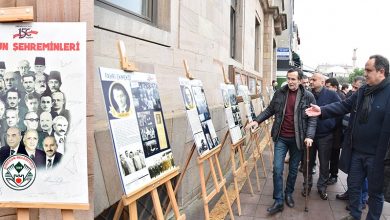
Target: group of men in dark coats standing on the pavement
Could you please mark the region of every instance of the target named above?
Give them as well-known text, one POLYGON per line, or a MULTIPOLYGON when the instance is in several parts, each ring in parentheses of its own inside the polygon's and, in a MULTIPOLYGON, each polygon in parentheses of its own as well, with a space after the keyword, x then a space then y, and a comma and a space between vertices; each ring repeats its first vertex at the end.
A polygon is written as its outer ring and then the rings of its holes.
POLYGON ((381 55, 369 57, 364 76, 354 79, 351 90, 347 84, 340 88, 335 78, 326 79, 320 72, 314 72, 311 78, 297 68, 287 72, 287 84, 275 88, 269 106, 246 127, 257 127, 275 116, 271 132, 275 143, 275 202, 267 209, 269 214, 283 211, 283 200, 287 206, 294 207, 299 164, 304 179, 301 195, 310 195, 318 155, 316 186, 320 198, 328 200, 327 186, 337 182, 340 169, 348 174, 348 190, 336 195, 337 199, 349 200, 346 209, 350 210, 350 215, 343 219, 360 219, 366 204, 367 219, 380 219, 384 188, 389 191, 384 176, 390 175, 384 168, 386 153, 386 158, 390 159, 388 75, 389 61, 381 55), (283 189, 283 163, 287 152, 289 170, 283 189))

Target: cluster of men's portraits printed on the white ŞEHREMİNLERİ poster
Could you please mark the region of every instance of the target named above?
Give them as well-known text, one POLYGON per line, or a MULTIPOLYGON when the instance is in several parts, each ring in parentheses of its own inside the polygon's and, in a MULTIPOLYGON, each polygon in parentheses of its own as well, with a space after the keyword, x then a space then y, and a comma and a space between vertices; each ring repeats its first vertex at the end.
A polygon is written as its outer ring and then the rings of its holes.
POLYGON ((17 70, 7 65, 0 61, 0 165, 24 154, 37 168, 51 169, 66 152, 70 122, 61 73, 46 73, 44 57, 35 58, 34 68, 28 60, 17 70))

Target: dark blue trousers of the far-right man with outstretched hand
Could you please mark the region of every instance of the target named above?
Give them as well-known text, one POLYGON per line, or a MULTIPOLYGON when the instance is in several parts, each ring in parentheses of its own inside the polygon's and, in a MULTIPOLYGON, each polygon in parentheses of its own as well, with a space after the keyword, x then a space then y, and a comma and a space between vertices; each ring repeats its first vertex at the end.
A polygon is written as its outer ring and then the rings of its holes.
MULTIPOLYGON (((360 219, 362 211, 360 209, 362 184, 367 177, 368 182, 375 181, 372 179, 373 163, 375 156, 362 154, 356 151, 352 152, 351 167, 348 173, 348 194, 350 214, 355 219, 360 219)), ((383 209, 383 192, 381 190, 374 190, 368 184, 368 213, 367 220, 380 219, 383 209)))

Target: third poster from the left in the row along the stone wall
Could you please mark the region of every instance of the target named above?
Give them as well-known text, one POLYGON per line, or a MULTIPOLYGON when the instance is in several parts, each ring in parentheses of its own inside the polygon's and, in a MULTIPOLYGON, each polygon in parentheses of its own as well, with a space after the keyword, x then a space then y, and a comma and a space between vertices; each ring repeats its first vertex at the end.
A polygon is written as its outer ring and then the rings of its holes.
POLYGON ((238 108, 236 88, 232 84, 221 83, 223 106, 232 143, 237 143, 245 135, 240 109, 238 108))

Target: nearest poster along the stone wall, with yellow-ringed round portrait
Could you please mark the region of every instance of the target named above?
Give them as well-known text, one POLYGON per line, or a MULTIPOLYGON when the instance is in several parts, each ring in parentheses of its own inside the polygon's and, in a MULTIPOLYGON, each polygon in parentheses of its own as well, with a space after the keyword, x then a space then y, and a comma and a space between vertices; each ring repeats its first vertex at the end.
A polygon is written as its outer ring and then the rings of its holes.
POLYGON ((118 170, 129 195, 175 166, 156 76, 99 71, 118 170))

